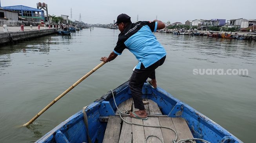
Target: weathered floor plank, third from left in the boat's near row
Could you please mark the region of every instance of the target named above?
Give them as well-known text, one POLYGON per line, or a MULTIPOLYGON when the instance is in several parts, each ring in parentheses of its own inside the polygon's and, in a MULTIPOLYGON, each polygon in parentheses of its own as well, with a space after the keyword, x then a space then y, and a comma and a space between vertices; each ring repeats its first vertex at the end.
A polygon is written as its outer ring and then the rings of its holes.
MULTIPOLYGON (((133 123, 137 123, 143 125, 143 121, 141 119, 132 118, 133 123)), ((145 134, 143 126, 132 125, 133 130, 133 143, 144 143, 145 134)))

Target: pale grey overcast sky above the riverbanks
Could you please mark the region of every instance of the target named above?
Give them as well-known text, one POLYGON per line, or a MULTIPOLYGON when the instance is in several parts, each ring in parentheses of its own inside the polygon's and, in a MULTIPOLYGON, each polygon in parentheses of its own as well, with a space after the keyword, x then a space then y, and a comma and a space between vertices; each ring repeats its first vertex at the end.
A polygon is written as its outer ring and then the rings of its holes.
MULTIPOLYGON (((0 0, 1 6, 25 5, 36 8, 37 2, 48 5, 48 13, 69 15, 85 23, 113 23, 126 13, 133 22, 162 20, 185 23, 195 19, 256 19, 256 0, 0 0)), ((46 13, 45 13, 46 14, 46 13)), ((227 21, 226 21, 227 22, 227 21)))

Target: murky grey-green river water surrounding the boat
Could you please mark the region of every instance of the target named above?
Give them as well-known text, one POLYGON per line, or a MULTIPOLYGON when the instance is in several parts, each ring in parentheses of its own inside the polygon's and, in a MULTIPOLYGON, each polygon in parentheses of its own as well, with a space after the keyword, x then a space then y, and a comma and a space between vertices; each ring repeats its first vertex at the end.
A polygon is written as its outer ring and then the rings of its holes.
MULTIPOLYGON (((129 50, 80 83, 31 127, 18 127, 100 63, 119 30, 83 29, 0 46, 0 142, 33 142, 131 76, 129 50)), ((256 129, 256 42, 155 33, 167 58, 158 86, 244 142, 256 129), (248 69, 248 75, 194 75, 193 69, 248 69)))

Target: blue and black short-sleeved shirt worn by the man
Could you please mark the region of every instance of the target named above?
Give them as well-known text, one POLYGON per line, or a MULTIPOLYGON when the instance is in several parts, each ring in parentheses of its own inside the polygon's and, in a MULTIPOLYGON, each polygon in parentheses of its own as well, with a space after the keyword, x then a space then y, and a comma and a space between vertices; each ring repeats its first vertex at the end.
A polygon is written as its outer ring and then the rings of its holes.
POLYGON ((113 52, 121 55, 127 48, 131 51, 139 63, 135 67, 140 69, 141 63, 145 68, 166 55, 163 46, 156 40, 153 32, 156 31, 157 21, 138 21, 131 23, 118 35, 118 41, 113 52))

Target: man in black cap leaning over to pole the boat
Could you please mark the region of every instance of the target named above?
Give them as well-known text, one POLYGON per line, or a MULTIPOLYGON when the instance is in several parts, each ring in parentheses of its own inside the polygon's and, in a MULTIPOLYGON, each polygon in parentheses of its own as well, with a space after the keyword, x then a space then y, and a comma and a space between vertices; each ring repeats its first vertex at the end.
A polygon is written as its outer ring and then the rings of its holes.
POLYGON ((130 116, 146 120, 147 113, 142 102, 142 87, 147 78, 151 79, 147 82, 152 88, 157 87, 155 69, 165 61, 166 52, 156 40, 153 32, 163 29, 165 24, 160 20, 132 23, 130 16, 120 14, 114 25, 117 25, 121 32, 118 35, 116 47, 109 57, 102 57, 100 60, 105 63, 112 61, 117 55, 121 55, 125 48, 135 55, 139 62, 129 81, 129 88, 133 96, 134 107, 139 111, 130 113, 130 116))

